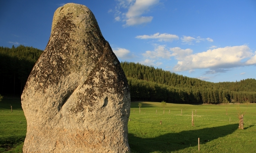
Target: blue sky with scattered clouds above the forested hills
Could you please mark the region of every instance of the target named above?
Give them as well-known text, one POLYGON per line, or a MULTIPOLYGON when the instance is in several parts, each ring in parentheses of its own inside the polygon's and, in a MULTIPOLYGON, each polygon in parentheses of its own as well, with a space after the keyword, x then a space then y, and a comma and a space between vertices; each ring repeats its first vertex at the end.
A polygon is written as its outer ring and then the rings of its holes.
POLYGON ((70 2, 92 10, 120 61, 210 82, 256 78, 255 0, 0 1, 0 46, 44 50, 70 2))

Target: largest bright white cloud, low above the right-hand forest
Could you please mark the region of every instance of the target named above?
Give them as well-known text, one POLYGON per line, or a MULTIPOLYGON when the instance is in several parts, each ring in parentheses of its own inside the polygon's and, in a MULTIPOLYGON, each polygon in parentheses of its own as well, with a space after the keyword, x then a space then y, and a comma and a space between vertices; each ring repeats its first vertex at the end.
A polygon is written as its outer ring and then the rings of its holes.
POLYGON ((177 72, 210 68, 212 70, 226 71, 226 68, 245 65, 241 60, 251 57, 252 54, 250 48, 246 45, 209 49, 208 51, 190 54, 180 59, 177 65, 173 67, 173 70, 177 72))

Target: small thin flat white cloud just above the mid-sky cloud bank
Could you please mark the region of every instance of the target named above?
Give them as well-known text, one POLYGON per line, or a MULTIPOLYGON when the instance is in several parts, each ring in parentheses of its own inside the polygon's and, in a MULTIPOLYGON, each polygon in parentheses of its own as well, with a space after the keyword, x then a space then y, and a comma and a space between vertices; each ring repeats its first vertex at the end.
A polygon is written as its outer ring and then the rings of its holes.
POLYGON ((159 33, 155 33, 152 35, 139 35, 136 36, 136 38, 138 39, 157 39, 158 41, 173 41, 173 40, 178 40, 179 37, 173 34, 159 34, 159 33))

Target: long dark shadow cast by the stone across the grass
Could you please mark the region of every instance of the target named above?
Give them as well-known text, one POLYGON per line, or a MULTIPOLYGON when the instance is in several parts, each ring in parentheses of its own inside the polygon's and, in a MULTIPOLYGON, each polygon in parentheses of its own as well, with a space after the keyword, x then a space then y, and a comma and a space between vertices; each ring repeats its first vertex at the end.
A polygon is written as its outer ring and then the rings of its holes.
POLYGON ((237 128, 238 124, 230 124, 179 133, 168 133, 155 138, 140 138, 134 134, 128 134, 128 138, 133 153, 173 152, 190 146, 197 146, 198 138, 200 138, 201 144, 205 144, 219 137, 229 135, 237 128))

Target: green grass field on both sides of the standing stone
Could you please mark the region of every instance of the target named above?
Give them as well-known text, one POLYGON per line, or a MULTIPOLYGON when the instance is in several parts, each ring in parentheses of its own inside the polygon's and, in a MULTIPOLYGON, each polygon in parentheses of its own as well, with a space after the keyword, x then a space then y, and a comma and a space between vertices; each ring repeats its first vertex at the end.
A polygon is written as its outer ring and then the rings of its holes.
MULTIPOLYGON (((0 102, 0 116, 0 152, 22 152, 27 123, 20 99, 4 98, 0 102)), ((255 124, 256 104, 239 104, 239 107, 229 104, 227 107, 167 103, 163 114, 161 103, 142 102, 139 114, 138 102, 132 102, 128 138, 133 153, 256 152, 255 124), (238 129, 238 109, 242 113, 246 110, 244 130, 238 129)))

